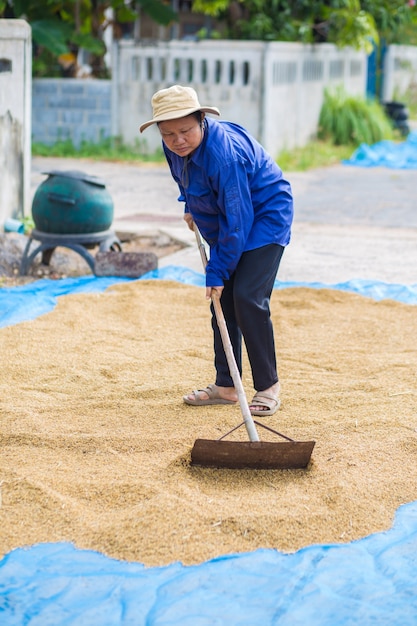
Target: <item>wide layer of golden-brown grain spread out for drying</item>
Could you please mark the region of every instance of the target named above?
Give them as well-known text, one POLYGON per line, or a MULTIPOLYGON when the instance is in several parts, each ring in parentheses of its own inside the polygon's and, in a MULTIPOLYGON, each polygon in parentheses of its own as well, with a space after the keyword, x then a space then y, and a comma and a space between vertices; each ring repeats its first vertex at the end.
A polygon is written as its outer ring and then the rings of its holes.
MULTIPOLYGON (((162 566, 292 552, 386 530, 417 499, 415 307, 274 291, 282 408, 266 423, 317 442, 291 471, 190 467, 195 439, 241 421, 238 406, 182 402, 213 381, 209 317, 203 288, 140 280, 0 329, 1 554, 69 541, 162 566)), ((250 400, 246 355, 243 383, 250 400)))

